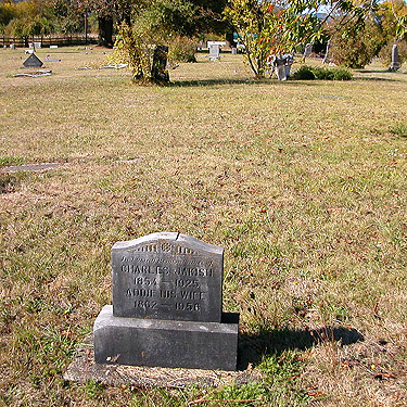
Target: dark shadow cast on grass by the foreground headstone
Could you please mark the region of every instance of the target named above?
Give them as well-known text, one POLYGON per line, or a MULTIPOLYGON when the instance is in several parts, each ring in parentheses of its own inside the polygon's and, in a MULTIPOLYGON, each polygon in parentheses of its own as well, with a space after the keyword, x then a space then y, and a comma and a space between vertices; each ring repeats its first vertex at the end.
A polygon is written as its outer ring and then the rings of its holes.
POLYGON ((351 345, 364 341, 356 329, 343 327, 323 327, 314 330, 271 330, 257 334, 242 334, 239 338, 239 370, 249 364, 258 364, 267 354, 281 354, 288 349, 304 351, 322 342, 338 342, 351 345))

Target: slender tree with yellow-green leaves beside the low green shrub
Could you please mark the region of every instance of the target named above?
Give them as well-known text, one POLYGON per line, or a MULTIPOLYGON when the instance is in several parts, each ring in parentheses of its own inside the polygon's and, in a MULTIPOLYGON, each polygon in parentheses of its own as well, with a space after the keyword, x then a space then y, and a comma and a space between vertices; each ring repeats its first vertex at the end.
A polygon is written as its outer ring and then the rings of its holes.
POLYGON ((326 23, 338 17, 339 26, 354 28, 376 7, 374 0, 354 4, 351 0, 229 0, 225 11, 245 46, 245 58, 256 77, 263 77, 270 54, 292 52, 298 44, 328 35, 326 23), (319 20, 321 7, 329 13, 319 20), (352 24, 351 24, 352 22, 352 24))

